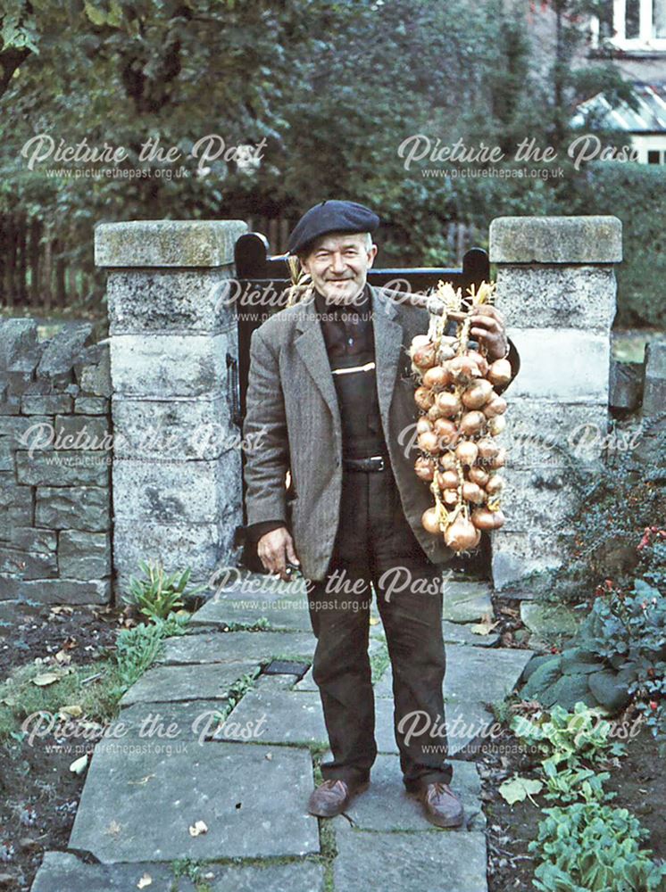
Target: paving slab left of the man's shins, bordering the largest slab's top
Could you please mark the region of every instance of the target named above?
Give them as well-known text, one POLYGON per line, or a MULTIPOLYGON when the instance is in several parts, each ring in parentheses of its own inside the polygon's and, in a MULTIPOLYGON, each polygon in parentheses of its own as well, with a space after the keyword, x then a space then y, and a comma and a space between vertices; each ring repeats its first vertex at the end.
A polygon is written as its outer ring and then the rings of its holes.
POLYGON ((307 745, 329 739, 318 693, 296 693, 269 685, 249 690, 215 739, 244 740, 244 729, 255 728, 257 723, 261 734, 250 742, 307 745))

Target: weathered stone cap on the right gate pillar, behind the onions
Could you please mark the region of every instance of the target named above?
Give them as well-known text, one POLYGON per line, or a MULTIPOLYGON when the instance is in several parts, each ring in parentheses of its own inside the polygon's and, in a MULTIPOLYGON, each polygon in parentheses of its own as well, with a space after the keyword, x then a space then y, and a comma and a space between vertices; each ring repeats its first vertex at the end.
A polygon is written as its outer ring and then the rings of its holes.
POLYGON ((490 224, 492 263, 620 263, 617 217, 497 217, 490 224))

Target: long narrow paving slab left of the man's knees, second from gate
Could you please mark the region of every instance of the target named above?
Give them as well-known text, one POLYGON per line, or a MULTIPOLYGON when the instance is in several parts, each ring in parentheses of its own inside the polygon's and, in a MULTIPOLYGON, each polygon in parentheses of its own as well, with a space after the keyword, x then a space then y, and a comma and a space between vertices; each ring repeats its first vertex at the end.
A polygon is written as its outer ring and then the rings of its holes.
POLYGON ((317 639, 312 632, 207 632, 179 635, 164 642, 165 665, 184 663, 237 663, 240 660, 304 657, 312 659, 317 639))

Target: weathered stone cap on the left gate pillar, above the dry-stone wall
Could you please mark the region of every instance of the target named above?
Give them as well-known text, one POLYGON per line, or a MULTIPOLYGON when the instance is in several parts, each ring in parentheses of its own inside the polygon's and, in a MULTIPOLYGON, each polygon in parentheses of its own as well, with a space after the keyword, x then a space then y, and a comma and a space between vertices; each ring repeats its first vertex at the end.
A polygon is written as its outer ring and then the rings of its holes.
POLYGON ((98 267, 224 267, 243 220, 127 220, 95 229, 98 267))

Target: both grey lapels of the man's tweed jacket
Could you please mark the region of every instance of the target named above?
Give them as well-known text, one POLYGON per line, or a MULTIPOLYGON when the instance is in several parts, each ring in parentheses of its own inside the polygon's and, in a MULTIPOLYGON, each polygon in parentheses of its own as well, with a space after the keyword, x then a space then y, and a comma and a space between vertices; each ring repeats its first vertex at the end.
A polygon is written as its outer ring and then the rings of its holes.
MULTIPOLYGON (((375 341, 375 367, 377 395, 384 431, 388 432, 388 409, 393 398, 398 360, 403 345, 403 326, 395 321, 397 310, 394 301, 373 285, 368 285, 372 308, 372 330, 375 341)), ((312 380, 326 401, 337 430, 341 430, 340 410, 337 405, 336 386, 330 370, 329 355, 324 335, 317 318, 314 298, 304 301, 296 320, 296 349, 303 359, 312 380)))

